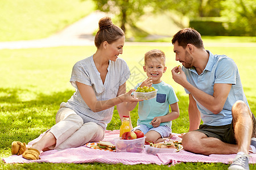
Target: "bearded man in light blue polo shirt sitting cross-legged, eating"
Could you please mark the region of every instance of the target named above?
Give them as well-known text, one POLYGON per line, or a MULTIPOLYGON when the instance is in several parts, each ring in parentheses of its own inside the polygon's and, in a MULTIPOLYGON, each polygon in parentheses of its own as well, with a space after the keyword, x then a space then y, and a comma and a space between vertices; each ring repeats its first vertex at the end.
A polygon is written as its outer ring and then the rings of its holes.
POLYGON ((249 169, 249 150, 256 152, 256 120, 236 63, 205 50, 200 33, 192 28, 177 32, 172 44, 176 61, 183 65, 172 69, 172 78, 189 94, 184 149, 204 155, 237 154, 229 169, 249 169))

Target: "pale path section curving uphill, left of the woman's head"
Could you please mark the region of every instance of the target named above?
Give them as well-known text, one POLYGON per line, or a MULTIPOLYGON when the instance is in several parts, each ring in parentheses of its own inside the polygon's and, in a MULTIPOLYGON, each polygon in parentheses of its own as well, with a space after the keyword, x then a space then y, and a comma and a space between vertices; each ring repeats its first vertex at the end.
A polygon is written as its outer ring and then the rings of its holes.
POLYGON ((98 28, 98 20, 103 16, 103 12, 96 11, 45 39, 0 42, 0 49, 93 45, 92 33, 98 28))

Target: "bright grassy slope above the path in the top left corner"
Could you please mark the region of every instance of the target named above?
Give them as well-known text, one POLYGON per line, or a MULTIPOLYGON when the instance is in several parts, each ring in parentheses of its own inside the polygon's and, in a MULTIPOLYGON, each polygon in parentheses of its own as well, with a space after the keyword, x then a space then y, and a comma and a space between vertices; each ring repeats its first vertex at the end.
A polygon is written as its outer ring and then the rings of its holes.
POLYGON ((0 6, 0 41, 41 39, 94 10, 90 0, 2 0, 0 6))

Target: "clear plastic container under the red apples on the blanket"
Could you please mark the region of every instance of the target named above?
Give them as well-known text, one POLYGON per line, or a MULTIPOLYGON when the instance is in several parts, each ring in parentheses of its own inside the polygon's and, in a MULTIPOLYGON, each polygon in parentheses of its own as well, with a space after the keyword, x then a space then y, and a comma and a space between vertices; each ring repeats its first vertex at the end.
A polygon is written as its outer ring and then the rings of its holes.
POLYGON ((115 138, 115 151, 141 153, 144 148, 145 138, 146 137, 131 140, 115 138))

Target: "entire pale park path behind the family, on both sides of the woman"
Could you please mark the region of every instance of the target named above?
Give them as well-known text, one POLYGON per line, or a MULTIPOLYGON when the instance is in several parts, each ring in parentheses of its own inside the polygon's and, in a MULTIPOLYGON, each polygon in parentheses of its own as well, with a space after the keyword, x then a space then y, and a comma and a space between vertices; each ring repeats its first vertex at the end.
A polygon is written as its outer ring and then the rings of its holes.
MULTIPOLYGON (((47 48, 53 46, 94 45, 92 33, 98 28, 98 20, 106 16, 105 12, 95 11, 63 31, 45 39, 0 42, 0 49, 47 48)), ((135 46, 170 46, 171 42, 126 42, 135 46)), ((204 43, 205 46, 253 46, 255 43, 204 43)))

